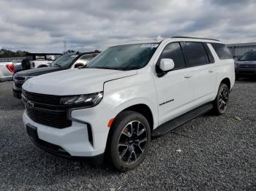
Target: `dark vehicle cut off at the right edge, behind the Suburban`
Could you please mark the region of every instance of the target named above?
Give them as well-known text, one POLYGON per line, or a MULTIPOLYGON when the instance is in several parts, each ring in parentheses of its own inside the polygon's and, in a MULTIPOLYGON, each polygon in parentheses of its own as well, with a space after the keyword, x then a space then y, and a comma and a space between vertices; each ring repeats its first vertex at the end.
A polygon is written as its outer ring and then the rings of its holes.
POLYGON ((235 62, 236 79, 239 77, 256 77, 256 50, 251 50, 235 62))

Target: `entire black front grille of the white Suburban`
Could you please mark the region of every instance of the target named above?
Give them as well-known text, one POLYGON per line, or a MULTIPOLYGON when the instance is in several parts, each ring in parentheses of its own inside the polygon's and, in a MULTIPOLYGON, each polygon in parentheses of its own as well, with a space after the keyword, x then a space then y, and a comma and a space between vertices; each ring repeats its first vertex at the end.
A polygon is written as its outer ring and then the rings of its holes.
POLYGON ((53 128, 67 128, 72 125, 68 117, 69 109, 59 104, 60 99, 59 95, 30 93, 23 90, 23 102, 29 118, 53 128))

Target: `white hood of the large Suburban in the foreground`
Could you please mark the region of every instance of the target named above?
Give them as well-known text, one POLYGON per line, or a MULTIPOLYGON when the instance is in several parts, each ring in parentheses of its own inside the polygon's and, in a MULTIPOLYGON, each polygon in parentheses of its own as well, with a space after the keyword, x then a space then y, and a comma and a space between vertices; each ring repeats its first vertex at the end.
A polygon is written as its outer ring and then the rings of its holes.
POLYGON ((103 90, 105 82, 137 74, 136 70, 69 69, 28 79, 23 89, 48 95, 79 95, 103 90))

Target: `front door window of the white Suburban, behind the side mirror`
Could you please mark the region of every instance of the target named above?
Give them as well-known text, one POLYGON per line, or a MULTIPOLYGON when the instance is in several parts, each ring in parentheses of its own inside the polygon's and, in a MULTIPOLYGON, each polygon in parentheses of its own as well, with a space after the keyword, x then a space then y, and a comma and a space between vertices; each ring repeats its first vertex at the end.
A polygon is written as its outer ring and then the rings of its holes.
POLYGON ((157 72, 160 70, 159 65, 162 58, 171 58, 174 62, 174 70, 184 69, 186 67, 184 55, 181 50, 181 45, 178 42, 172 42, 167 44, 165 49, 162 51, 158 61, 157 61, 157 72))

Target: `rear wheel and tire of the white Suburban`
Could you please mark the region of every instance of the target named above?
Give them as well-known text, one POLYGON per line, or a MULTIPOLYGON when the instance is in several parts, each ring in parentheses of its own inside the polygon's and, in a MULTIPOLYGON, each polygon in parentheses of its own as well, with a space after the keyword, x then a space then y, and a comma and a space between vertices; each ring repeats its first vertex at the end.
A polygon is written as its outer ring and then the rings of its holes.
POLYGON ((226 84, 220 84, 217 96, 214 100, 214 113, 217 115, 224 114, 227 110, 230 90, 226 84))

